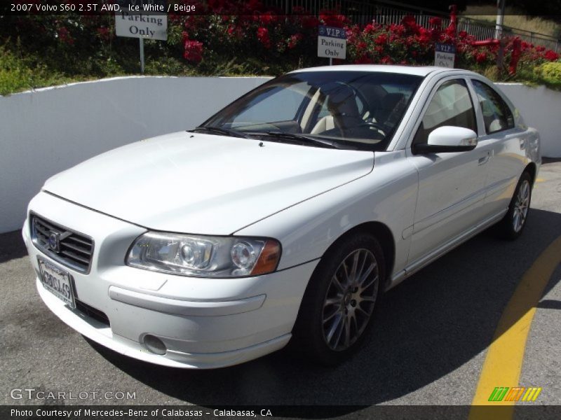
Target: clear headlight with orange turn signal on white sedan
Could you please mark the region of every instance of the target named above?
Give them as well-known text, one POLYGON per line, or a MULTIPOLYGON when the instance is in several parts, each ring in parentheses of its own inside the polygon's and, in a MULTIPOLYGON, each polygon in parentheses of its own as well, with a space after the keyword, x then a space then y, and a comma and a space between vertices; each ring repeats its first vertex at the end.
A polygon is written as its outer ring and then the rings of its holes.
POLYGON ((273 272, 278 260, 275 239, 148 232, 135 240, 126 263, 184 276, 243 277, 273 272))

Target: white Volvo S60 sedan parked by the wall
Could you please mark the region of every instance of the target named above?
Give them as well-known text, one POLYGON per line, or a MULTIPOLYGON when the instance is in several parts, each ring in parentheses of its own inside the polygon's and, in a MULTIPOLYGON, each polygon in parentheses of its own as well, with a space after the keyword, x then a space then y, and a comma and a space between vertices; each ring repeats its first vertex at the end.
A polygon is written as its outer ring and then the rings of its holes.
POLYGON ((293 339, 332 364, 384 290, 492 225, 518 237, 540 164, 476 73, 303 69, 53 176, 22 233, 45 304, 114 351, 211 368, 293 339))

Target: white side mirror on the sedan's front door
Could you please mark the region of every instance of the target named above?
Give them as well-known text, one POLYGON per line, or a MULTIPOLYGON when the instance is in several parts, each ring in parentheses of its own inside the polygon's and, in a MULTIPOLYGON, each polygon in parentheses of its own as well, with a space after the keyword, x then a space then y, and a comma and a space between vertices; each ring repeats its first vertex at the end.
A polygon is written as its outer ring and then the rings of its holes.
POLYGON ((444 125, 428 134, 426 143, 413 145, 413 153, 452 153, 473 151, 478 145, 478 135, 464 127, 444 125))

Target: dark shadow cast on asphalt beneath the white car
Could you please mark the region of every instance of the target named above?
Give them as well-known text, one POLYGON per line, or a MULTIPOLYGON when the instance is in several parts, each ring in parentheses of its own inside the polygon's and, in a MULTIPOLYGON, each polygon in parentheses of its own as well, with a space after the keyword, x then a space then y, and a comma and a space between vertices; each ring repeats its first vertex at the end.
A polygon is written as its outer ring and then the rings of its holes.
MULTIPOLYGON (((88 342, 131 377, 195 405, 379 404, 484 351, 518 281, 559 232, 561 214, 533 209, 517 241, 483 232, 459 246, 386 293, 369 339, 337 367, 314 365, 284 349, 234 367, 180 370, 88 342)), ((553 286, 550 281, 548 290, 553 286)))

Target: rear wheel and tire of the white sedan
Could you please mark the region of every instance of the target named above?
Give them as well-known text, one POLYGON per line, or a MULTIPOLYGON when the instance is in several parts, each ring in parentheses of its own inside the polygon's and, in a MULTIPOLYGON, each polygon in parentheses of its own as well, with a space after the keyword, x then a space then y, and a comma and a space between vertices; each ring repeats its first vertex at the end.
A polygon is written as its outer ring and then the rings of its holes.
POLYGON ((514 240, 522 235, 526 226, 532 200, 532 177, 528 172, 522 173, 508 211, 499 223, 496 224, 496 233, 499 237, 514 240))

